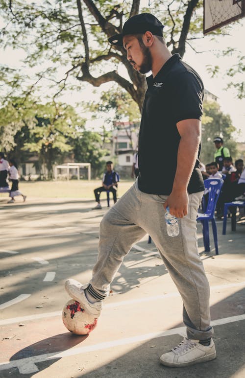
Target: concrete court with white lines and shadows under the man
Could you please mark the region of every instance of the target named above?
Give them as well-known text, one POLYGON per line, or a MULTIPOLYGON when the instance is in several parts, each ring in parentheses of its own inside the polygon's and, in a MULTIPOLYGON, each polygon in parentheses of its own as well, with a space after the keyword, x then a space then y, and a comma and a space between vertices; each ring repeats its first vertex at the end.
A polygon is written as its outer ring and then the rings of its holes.
MULTIPOLYGON (((0 198, 0 377, 245 378, 245 225, 221 235, 220 255, 198 246, 211 286, 216 360, 167 368, 159 356, 185 332, 176 287, 147 236, 125 258, 89 336, 66 330, 61 310, 69 277, 87 282, 107 211, 92 200, 0 198), (18 199, 17 199, 18 200, 18 199), (12 301, 12 302, 8 302, 12 301), (17 302, 19 301, 19 302, 17 302)), ((212 235, 212 232, 211 232, 212 235)))

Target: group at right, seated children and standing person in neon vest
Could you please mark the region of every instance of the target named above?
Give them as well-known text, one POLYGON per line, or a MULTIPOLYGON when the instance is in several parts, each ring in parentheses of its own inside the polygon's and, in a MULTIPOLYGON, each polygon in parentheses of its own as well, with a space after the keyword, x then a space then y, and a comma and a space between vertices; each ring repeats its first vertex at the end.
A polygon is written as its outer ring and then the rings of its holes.
POLYGON ((245 169, 243 159, 237 159, 235 166, 229 149, 223 147, 223 140, 220 137, 214 140, 216 151, 214 161, 206 165, 201 164, 203 179, 223 179, 221 194, 217 203, 217 216, 223 216, 223 207, 227 202, 235 200, 245 201, 245 169))

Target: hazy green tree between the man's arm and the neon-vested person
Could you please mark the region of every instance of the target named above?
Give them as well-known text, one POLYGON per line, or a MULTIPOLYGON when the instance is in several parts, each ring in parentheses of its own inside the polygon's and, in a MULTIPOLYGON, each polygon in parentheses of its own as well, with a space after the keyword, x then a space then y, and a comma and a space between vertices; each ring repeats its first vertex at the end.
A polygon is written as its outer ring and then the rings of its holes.
POLYGON ((232 126, 230 116, 221 111, 217 102, 204 102, 203 108, 201 161, 204 164, 214 161, 213 140, 219 136, 224 140, 225 147, 229 148, 231 156, 235 158, 237 147, 232 134, 236 129, 232 126))

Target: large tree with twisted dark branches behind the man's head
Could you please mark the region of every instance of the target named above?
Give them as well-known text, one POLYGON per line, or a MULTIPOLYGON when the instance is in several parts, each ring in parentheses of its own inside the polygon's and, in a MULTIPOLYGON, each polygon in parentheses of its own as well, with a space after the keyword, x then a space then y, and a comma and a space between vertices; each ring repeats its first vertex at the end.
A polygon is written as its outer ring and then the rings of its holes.
MULTIPOLYGON (((5 21, 1 45, 23 48, 25 65, 43 67, 36 78, 32 78, 27 93, 44 79, 50 80, 52 87, 56 86, 54 96, 71 85, 74 89, 79 82, 95 87, 116 82, 141 109, 145 78, 132 68, 122 47, 109 45, 108 37, 120 33, 128 17, 139 11, 149 11, 157 14, 166 25, 166 42, 172 53, 178 52, 183 57, 187 44, 203 38, 200 0, 154 1, 147 8, 140 8, 140 0, 121 0, 116 5, 108 0, 76 0, 76 3, 68 0, 38 3, 1 0, 0 9, 5 21), (58 78, 60 66, 66 67, 63 78, 58 78), (127 71, 127 78, 119 73, 122 67, 127 71)), ((213 32, 219 33, 220 30, 213 32)), ((26 80, 20 72, 8 67, 2 68, 1 76, 10 86, 17 83, 18 90, 26 80), (12 75, 11 80, 9 75, 12 75)))

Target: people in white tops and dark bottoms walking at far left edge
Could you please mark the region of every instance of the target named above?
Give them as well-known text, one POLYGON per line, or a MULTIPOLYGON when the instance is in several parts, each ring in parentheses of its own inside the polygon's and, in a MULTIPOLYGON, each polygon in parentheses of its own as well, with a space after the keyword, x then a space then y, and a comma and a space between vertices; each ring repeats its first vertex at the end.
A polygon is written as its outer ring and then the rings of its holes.
POLYGON ((15 160, 6 160, 3 152, 0 152, 0 191, 9 191, 10 200, 8 203, 14 203, 15 198, 18 195, 23 197, 25 202, 26 195, 22 194, 19 190, 19 171, 15 160), (11 189, 9 189, 8 181, 12 183, 11 189))

